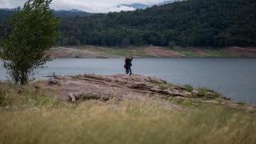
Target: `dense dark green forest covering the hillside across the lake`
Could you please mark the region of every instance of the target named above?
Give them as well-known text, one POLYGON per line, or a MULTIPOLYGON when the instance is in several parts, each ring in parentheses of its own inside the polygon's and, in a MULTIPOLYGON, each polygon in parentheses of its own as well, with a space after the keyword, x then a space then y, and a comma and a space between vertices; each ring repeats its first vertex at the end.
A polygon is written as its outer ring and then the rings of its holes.
POLYGON ((146 10, 61 18, 59 44, 256 46, 255 7, 255 0, 187 0, 146 10))

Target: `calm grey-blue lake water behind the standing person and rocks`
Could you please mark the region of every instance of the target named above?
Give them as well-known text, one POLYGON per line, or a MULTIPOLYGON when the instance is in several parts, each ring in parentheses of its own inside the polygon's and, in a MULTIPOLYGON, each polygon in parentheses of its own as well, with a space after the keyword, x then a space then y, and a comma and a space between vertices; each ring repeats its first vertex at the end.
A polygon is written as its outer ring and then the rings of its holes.
MULTIPOLYGON (((120 74, 123 59, 55 59, 38 71, 36 78, 55 72, 58 75, 120 74)), ((2 64, 2 62, 0 62, 2 64)), ((168 82, 195 87, 208 87, 238 101, 256 104, 256 59, 250 58, 138 58, 134 74, 154 76, 168 82)), ((6 71, 0 68, 0 79, 6 71)))

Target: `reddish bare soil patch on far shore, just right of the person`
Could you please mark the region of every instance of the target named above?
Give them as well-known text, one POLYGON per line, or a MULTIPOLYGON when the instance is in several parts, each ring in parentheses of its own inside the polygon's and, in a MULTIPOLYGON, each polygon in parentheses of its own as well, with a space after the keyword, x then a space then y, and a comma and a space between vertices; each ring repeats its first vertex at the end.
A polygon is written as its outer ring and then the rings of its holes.
POLYGON ((146 48, 146 54, 152 55, 157 58, 180 58, 184 55, 178 54, 177 52, 171 51, 171 50, 163 50, 160 47, 157 46, 150 46, 149 48, 146 48))

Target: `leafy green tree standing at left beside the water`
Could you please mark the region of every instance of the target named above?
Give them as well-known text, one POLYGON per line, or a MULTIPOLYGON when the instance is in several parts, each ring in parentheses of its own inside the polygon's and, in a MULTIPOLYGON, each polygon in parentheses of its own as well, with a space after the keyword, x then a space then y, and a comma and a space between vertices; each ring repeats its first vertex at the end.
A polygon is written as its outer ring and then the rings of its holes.
POLYGON ((58 39, 59 20, 50 10, 52 0, 28 0, 10 18, 12 31, 3 40, 0 57, 15 83, 26 84, 34 70, 43 68, 45 54, 58 39))

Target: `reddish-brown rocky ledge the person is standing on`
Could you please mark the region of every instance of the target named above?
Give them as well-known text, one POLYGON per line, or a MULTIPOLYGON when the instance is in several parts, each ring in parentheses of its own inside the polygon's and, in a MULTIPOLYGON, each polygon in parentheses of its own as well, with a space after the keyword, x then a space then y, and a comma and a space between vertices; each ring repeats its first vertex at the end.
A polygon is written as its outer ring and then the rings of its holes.
POLYGON ((96 99, 108 101, 155 98, 163 100, 189 100, 228 106, 235 109, 256 110, 256 106, 234 102, 214 90, 206 88, 194 89, 191 86, 175 86, 161 78, 142 75, 96 75, 83 74, 69 77, 55 77, 42 82, 48 92, 57 92, 58 98, 76 102, 79 100, 96 99))

